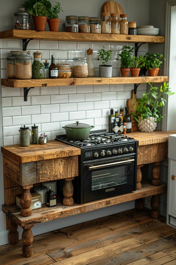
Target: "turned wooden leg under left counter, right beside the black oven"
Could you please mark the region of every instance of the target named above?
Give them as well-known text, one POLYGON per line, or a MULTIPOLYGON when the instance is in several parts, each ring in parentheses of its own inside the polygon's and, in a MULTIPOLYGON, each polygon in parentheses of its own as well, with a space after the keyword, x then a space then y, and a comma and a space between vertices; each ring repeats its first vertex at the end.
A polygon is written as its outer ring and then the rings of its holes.
POLYGON ((64 199, 63 199, 63 204, 65 206, 70 206, 73 205, 73 185, 72 185, 72 180, 74 177, 70 178, 65 178, 65 183, 63 187, 63 194, 64 194, 64 199))

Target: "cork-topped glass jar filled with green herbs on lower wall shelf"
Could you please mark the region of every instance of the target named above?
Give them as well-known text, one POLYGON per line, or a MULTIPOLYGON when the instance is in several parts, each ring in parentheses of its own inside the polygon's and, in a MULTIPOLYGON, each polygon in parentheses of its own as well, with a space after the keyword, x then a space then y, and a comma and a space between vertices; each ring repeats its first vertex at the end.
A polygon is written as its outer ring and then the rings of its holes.
POLYGON ((34 52, 34 61, 32 65, 32 78, 33 79, 43 79, 45 67, 41 61, 41 52, 34 52))

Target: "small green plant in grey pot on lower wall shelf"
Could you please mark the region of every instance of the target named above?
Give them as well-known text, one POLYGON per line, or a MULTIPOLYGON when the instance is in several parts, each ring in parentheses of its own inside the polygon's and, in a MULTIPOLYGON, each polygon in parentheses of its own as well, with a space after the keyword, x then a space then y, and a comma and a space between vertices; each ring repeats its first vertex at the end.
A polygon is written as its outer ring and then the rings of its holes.
POLYGON ((98 51, 98 58, 97 60, 102 60, 102 64, 99 65, 99 76, 100 77, 112 77, 112 65, 107 65, 108 61, 112 58, 112 51, 105 51, 104 49, 101 49, 98 51))

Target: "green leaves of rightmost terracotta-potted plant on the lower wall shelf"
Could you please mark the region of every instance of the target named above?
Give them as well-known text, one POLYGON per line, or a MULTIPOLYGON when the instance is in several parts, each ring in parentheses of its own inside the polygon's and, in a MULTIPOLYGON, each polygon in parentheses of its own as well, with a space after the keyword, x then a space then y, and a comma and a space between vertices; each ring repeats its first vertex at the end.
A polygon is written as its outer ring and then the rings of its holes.
POLYGON ((160 67, 161 64, 163 64, 163 61, 161 59, 166 60, 166 58, 164 58, 164 56, 160 53, 147 52, 146 55, 144 56, 146 68, 151 70, 152 68, 160 67))

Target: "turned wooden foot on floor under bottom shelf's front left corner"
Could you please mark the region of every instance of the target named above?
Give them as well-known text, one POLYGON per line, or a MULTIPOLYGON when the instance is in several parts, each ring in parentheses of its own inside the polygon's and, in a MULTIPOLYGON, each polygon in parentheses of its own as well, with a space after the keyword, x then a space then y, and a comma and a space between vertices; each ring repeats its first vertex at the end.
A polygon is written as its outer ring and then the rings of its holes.
POLYGON ((23 233, 21 236, 21 240, 23 243, 23 247, 22 247, 22 251, 23 251, 23 257, 25 258, 29 258, 33 255, 33 233, 31 231, 31 228, 34 225, 29 225, 29 226, 25 226, 23 227, 23 233))

